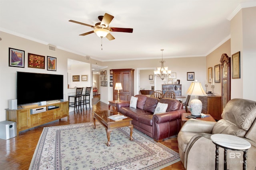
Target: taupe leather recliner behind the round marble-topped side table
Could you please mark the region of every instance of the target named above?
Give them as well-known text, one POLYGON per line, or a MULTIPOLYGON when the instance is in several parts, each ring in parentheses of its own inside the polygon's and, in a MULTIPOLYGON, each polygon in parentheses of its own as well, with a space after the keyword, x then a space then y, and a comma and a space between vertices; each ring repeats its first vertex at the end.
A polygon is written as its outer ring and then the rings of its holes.
MULTIPOLYGON (((213 170, 215 145, 210 136, 222 133, 242 137, 250 142, 247 153, 247 169, 256 170, 256 102, 232 99, 224 108, 218 122, 189 119, 178 133, 180 159, 186 170, 213 170)), ((227 167, 241 170, 243 152, 228 150, 227 167)), ((224 149, 219 149, 219 169, 224 168, 224 149)))

